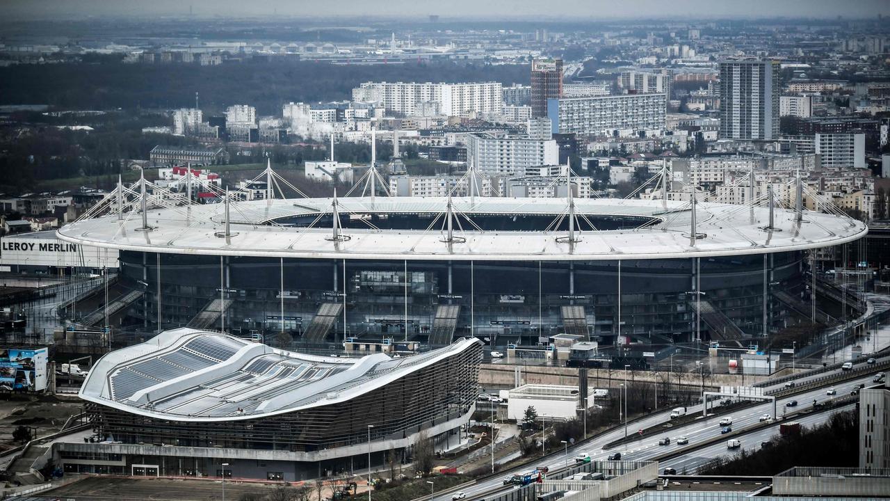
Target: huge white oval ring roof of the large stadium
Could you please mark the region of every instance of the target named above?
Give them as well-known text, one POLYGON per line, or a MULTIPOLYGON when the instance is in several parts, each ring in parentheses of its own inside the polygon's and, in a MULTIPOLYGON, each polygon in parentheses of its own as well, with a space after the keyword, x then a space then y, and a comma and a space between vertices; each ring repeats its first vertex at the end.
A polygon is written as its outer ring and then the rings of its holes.
MULTIPOLYGON (((696 233, 690 238, 689 204, 679 201, 575 199, 578 217, 605 216, 653 218, 654 224, 625 230, 587 231, 577 242, 565 242, 566 232, 467 231, 455 228, 461 242, 443 242, 440 218, 429 230, 344 229, 348 240, 332 240, 329 227, 286 227, 267 224, 293 216, 325 216, 331 199, 240 201, 231 204, 231 238, 224 229, 223 204, 150 209, 151 231, 139 231, 141 216, 130 213, 85 219, 63 226, 59 238, 87 246, 118 250, 144 250, 184 254, 268 256, 319 259, 484 259, 484 260, 596 260, 669 259, 694 256, 732 256, 788 250, 805 250, 856 240, 866 226, 850 218, 804 211, 803 224, 794 211, 776 209, 773 227, 765 231, 769 209, 725 203, 700 202, 696 233)), ((342 215, 441 214, 445 198, 350 197, 337 200, 342 215)), ((457 213, 473 215, 565 214, 567 203, 554 198, 468 197, 453 199, 457 213)))

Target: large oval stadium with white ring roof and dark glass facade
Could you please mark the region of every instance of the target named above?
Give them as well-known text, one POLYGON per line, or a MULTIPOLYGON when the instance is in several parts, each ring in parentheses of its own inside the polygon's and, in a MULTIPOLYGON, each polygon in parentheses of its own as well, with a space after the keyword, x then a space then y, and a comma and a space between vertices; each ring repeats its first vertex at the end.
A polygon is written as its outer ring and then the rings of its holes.
POLYGON ((814 250, 867 232, 803 209, 799 188, 786 209, 768 197, 282 199, 272 190, 193 204, 145 185, 120 186, 58 231, 119 251, 115 308, 126 322, 272 334, 306 348, 461 337, 533 347, 559 333, 607 352, 742 344, 809 311, 814 250))

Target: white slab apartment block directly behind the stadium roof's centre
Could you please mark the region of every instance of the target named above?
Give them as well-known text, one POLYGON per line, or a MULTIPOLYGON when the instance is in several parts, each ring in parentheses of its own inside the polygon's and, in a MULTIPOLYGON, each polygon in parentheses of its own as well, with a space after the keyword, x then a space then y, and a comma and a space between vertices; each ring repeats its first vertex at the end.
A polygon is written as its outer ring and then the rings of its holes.
POLYGON ((559 147, 553 139, 474 133, 466 136, 466 158, 481 173, 515 176, 527 167, 558 164, 559 147))

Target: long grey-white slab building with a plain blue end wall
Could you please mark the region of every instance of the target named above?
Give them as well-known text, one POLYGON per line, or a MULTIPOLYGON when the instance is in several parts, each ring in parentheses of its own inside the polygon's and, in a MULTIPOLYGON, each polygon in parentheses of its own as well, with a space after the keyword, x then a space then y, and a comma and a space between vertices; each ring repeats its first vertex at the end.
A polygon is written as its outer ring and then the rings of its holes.
POLYGON ((547 102, 554 134, 629 136, 665 127, 665 94, 566 97, 547 102))

